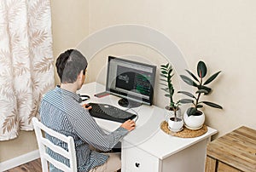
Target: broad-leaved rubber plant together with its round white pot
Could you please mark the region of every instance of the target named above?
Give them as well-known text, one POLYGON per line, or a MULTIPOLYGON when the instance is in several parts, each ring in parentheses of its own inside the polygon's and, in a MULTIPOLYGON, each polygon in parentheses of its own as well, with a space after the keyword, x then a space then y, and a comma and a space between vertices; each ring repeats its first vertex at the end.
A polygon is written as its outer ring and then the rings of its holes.
POLYGON ((203 81, 204 78, 207 75, 207 66, 203 61, 199 61, 197 64, 197 76, 192 72, 189 72, 186 70, 186 72, 189 73, 190 77, 186 77, 184 75, 180 75, 182 80, 185 83, 188 83, 189 85, 195 87, 197 90, 195 91, 195 95, 187 92, 187 91, 178 91, 177 93, 187 95, 189 96, 189 99, 182 99, 180 100, 180 103, 186 104, 186 103, 192 103, 192 107, 189 107, 186 112, 184 112, 183 120, 185 123, 185 126, 189 129, 201 129, 203 123, 205 122, 205 114, 204 112, 200 111, 199 109, 203 107, 203 105, 212 106, 218 109, 223 109, 222 106, 219 106, 216 103, 212 103, 209 101, 200 101, 201 95, 209 95, 212 92, 212 89, 206 86, 209 83, 212 83, 212 81, 218 77, 219 72, 214 73, 211 77, 208 77, 206 81, 203 81))

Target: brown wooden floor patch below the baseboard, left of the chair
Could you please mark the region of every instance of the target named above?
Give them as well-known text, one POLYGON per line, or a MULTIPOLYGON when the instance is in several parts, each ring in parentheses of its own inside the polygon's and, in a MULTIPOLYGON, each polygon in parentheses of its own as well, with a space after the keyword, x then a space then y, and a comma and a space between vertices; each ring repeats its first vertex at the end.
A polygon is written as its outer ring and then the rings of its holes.
POLYGON ((32 162, 22 164, 18 167, 15 167, 14 169, 9 169, 5 172, 25 172, 25 171, 26 172, 42 172, 40 158, 32 162))

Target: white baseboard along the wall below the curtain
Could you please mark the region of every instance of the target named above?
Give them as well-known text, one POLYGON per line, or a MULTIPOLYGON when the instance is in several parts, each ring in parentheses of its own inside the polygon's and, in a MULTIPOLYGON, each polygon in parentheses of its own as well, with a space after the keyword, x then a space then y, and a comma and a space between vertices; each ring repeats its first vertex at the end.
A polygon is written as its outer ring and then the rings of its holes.
POLYGON ((16 158, 12 158, 12 159, 9 159, 7 161, 4 161, 2 163, 0 163, 0 171, 5 171, 5 170, 8 170, 8 169, 12 169, 12 168, 15 168, 23 163, 28 163, 32 160, 35 160, 37 158, 40 158, 40 155, 39 155, 39 151, 36 150, 36 151, 33 151, 33 152, 28 152, 24 155, 21 155, 19 157, 16 157, 16 158))

